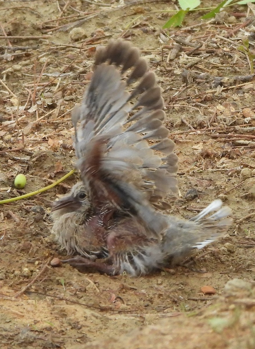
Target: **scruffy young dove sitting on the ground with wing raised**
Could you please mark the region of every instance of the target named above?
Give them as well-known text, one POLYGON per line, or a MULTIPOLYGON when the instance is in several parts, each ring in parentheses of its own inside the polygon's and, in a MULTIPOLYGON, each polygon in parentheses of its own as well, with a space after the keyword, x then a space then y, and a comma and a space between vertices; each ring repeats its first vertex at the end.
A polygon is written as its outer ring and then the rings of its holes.
POLYGON ((81 181, 53 203, 52 232, 81 271, 140 276, 222 237, 231 209, 216 199, 185 220, 159 210, 178 195, 178 157, 164 126, 155 73, 139 50, 111 40, 96 51, 72 111, 81 181))

